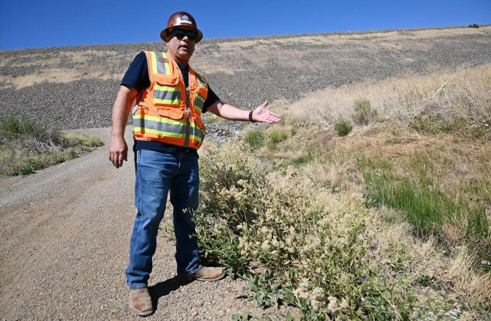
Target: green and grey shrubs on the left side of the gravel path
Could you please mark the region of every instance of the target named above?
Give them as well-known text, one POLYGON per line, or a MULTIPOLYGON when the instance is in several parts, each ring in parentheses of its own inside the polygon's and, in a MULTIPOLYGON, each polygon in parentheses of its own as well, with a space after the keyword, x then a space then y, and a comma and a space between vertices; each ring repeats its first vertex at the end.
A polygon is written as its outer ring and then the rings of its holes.
POLYGON ((66 160, 79 157, 84 147, 102 146, 94 136, 65 135, 25 116, 0 119, 0 173, 29 175, 66 160))

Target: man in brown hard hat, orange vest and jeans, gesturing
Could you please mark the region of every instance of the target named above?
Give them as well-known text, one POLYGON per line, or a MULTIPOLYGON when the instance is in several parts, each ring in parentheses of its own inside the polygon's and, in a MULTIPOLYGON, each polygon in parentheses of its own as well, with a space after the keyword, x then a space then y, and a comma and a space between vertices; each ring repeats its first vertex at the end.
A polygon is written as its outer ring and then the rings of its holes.
POLYGON ((217 281, 224 277, 222 268, 200 264, 190 215, 198 207, 197 150, 205 134, 201 113, 209 111, 229 120, 280 121, 280 115, 265 108, 267 101, 254 111, 223 103, 205 78, 188 65, 195 44, 203 37, 189 13, 172 14, 160 37, 167 42, 167 53, 141 52, 121 81, 109 146, 109 159, 116 168, 121 167, 127 160, 124 127, 136 98, 133 149, 137 213, 126 279, 130 306, 139 315, 154 312, 147 281, 169 191, 174 207, 178 277, 188 281, 217 281))

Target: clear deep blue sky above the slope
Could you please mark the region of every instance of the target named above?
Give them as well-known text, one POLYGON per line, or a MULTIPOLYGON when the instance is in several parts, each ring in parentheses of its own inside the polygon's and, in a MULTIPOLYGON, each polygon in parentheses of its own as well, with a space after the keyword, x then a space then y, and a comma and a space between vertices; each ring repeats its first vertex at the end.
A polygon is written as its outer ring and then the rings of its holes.
POLYGON ((491 24, 491 0, 2 0, 0 49, 159 41, 180 10, 204 38, 491 24))

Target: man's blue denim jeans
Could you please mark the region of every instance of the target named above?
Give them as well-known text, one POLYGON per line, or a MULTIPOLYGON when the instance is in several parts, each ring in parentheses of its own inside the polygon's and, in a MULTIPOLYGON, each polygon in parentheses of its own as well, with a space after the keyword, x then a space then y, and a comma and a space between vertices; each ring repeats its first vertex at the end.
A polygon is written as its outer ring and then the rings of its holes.
POLYGON ((177 273, 195 273, 202 267, 194 236, 196 225, 191 220, 191 212, 198 207, 198 155, 139 149, 135 151, 135 174, 137 213, 130 239, 127 285, 132 289, 147 286, 168 191, 174 207, 177 273))

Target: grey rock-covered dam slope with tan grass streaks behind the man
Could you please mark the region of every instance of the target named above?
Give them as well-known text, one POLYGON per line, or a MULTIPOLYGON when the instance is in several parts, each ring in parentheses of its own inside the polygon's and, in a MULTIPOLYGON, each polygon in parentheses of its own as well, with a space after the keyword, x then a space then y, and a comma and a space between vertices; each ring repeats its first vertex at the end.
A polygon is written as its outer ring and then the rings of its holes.
MULTIPOLYGON (((157 31, 156 31, 157 32, 157 31)), ((164 42, 0 51, 0 115, 62 129, 111 124, 120 80, 164 42)), ((225 102, 252 108, 326 87, 491 60, 491 26, 204 39, 191 66, 225 102)))

